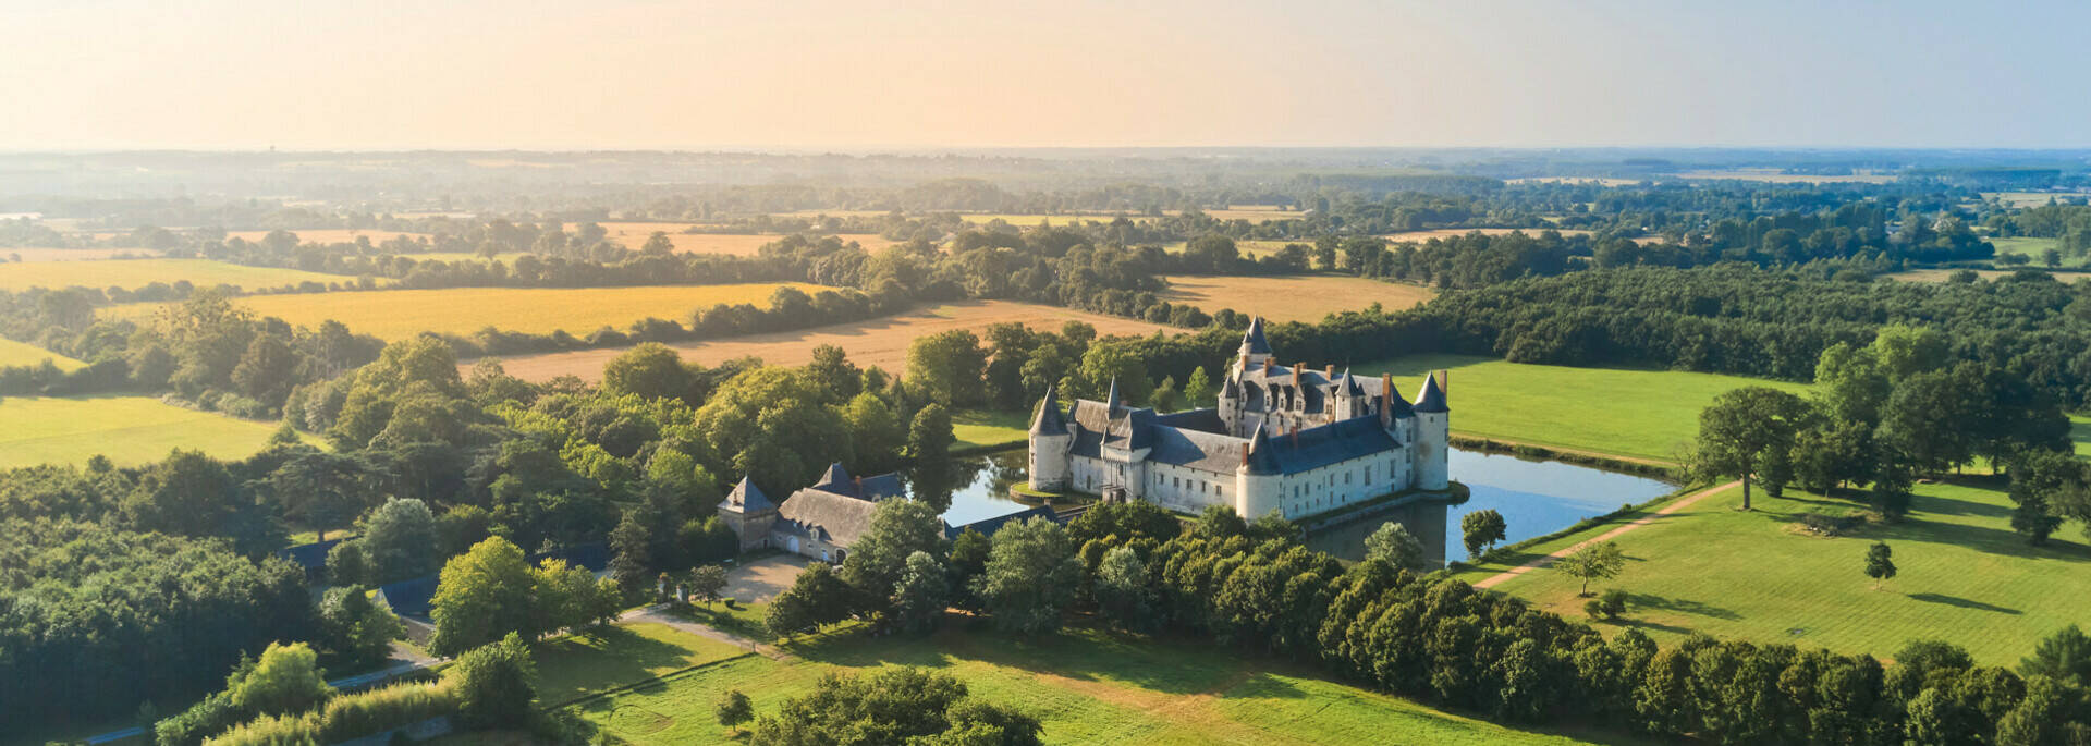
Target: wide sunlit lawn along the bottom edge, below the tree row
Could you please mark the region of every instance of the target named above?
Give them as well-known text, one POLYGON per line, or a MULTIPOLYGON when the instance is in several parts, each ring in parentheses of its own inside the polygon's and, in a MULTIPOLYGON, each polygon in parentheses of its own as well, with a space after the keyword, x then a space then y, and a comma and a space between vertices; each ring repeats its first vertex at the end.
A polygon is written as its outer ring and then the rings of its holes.
POLYGON ((659 685, 577 704, 629 744, 723 744, 726 690, 757 715, 805 694, 826 671, 930 667, 974 696, 1018 706, 1050 744, 1581 744, 1439 713, 1236 650, 1075 629, 1037 642, 945 631, 935 637, 826 635, 792 660, 734 658, 659 685))

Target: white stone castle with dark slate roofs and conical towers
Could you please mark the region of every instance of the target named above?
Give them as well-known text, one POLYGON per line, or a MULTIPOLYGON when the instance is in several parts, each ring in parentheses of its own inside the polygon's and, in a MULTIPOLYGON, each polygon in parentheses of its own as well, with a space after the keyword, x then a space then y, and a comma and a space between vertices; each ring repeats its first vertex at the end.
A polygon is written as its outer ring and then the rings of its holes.
POLYGON ((1449 414, 1437 376, 1409 403, 1391 376, 1278 366, 1259 318, 1227 366, 1217 410, 1131 407, 1112 382, 1104 401, 1081 399, 1062 414, 1048 391, 1031 420, 1031 485, 1181 512, 1313 516, 1447 489, 1449 414))

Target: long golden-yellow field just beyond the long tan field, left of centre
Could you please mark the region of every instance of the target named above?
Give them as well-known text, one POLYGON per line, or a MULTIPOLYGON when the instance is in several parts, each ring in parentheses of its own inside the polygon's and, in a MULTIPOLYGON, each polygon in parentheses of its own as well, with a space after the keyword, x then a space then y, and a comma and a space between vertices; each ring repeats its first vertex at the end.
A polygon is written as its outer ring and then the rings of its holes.
MULTIPOLYGON (((780 286, 807 295, 826 290, 803 282, 749 284, 663 284, 636 288, 443 288, 255 295, 236 303, 255 316, 274 316, 293 326, 326 320, 347 324, 358 334, 395 341, 420 332, 473 334, 487 326, 504 332, 588 334, 602 326, 625 328, 644 318, 688 324, 690 311, 717 303, 769 305, 780 286)), ((161 303, 128 303, 102 309, 111 318, 144 320, 161 303)))

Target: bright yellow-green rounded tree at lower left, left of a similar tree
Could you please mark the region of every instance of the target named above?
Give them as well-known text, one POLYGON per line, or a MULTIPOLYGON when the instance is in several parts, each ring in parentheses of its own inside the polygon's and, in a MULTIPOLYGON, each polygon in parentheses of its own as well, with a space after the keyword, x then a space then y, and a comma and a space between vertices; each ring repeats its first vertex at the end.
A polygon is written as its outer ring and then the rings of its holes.
POLYGON ((502 537, 450 558, 429 602, 429 616, 435 619, 429 652, 456 656, 529 629, 533 583, 523 550, 502 537))

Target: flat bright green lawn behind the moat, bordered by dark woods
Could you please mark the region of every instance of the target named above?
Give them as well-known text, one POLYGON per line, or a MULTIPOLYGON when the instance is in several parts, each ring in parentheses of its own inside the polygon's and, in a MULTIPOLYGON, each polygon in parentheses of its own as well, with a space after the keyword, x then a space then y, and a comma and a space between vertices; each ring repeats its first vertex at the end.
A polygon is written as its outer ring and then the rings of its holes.
MULTIPOLYGON (((1372 355, 1359 355, 1372 359, 1372 355)), ((1451 430, 1641 460, 1673 460, 1698 435, 1698 414, 1738 387, 1805 393, 1809 387, 1677 370, 1524 366, 1491 357, 1411 355, 1355 366, 1391 372, 1416 399, 1422 374, 1449 368, 1451 430)))

